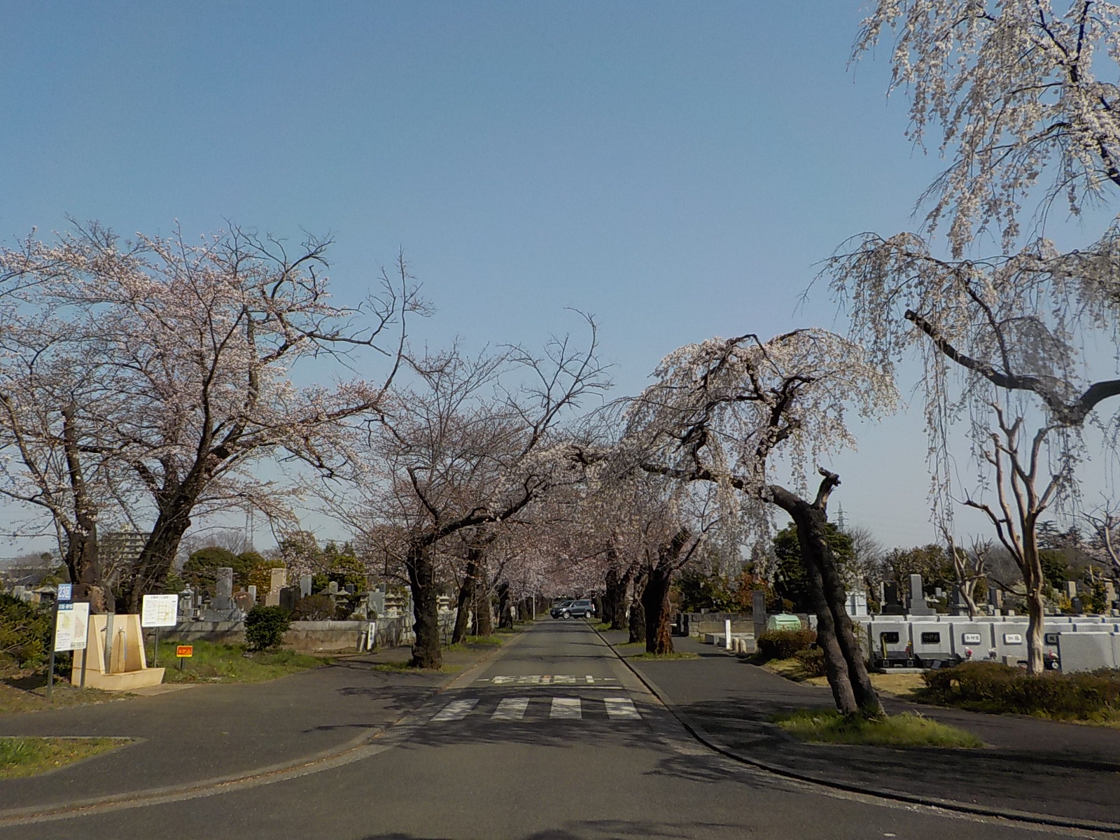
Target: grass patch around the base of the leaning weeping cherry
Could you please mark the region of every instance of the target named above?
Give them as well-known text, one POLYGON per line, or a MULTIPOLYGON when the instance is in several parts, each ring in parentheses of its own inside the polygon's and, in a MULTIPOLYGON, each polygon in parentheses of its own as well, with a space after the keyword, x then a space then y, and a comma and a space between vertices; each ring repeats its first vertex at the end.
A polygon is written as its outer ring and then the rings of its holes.
POLYGON ((772 719, 794 738, 813 744, 974 749, 983 741, 963 729, 903 712, 884 720, 846 718, 836 709, 797 709, 772 719))

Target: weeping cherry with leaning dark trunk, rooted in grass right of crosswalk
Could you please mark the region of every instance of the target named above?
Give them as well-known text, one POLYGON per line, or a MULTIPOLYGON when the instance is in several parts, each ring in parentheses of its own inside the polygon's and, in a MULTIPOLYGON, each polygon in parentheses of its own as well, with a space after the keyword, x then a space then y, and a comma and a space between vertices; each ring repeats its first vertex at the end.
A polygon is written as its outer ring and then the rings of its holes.
POLYGON ((889 371, 851 342, 801 329, 768 342, 745 335, 681 347, 634 400, 623 463, 683 483, 710 482, 726 520, 767 533, 775 507, 794 521, 809 572, 829 684, 847 715, 880 716, 844 601, 842 572, 825 539, 827 505, 840 478, 819 468, 809 495, 805 473, 839 447, 855 446, 849 409, 870 417, 894 405, 889 371), (793 488, 774 473, 784 460, 793 488))

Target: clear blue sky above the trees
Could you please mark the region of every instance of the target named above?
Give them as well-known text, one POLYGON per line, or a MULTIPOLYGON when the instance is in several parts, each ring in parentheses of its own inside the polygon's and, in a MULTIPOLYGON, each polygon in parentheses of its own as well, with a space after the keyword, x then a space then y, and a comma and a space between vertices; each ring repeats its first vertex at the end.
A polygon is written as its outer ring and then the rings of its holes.
MULTIPOLYGON (((540 345, 578 328, 576 307, 597 316, 616 395, 681 344, 842 330, 823 288, 800 304, 816 263, 852 234, 913 227, 939 170, 886 99, 886 56, 848 67, 857 2, 110 0, 4 17, 0 236, 66 215, 330 232, 340 300, 403 249, 438 310, 417 340, 540 345)), ((930 540, 920 421, 865 439, 833 506, 887 545, 930 540)))

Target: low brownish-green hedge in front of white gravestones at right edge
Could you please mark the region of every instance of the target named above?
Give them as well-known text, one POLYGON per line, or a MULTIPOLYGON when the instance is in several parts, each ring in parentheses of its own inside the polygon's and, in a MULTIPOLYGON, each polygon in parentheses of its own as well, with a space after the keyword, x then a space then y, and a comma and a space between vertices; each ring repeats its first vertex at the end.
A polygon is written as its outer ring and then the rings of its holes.
POLYGON ((1028 674, 996 662, 926 671, 925 696, 944 706, 990 712, 1092 720, 1120 712, 1120 672, 1028 674))

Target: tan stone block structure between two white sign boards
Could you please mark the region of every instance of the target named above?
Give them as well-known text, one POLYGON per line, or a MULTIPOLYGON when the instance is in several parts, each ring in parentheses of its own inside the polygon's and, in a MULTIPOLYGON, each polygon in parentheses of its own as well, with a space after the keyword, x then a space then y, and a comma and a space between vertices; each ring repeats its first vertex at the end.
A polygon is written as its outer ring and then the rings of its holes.
POLYGON ((106 641, 109 619, 108 615, 90 616, 86 648, 74 651, 71 682, 75 685, 82 682, 84 663, 87 689, 130 691, 144 685, 159 685, 164 681, 164 669, 148 668, 140 631, 140 616, 112 616, 112 637, 106 641))

